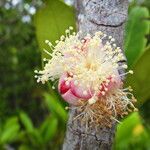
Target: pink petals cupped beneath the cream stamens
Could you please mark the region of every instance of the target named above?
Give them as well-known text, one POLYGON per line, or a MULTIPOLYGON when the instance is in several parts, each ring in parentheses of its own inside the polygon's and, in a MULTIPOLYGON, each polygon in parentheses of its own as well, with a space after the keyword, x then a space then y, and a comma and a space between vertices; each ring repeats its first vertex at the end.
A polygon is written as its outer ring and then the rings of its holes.
MULTIPOLYGON (((89 89, 82 87, 81 85, 75 85, 74 80, 68 80, 68 77, 71 77, 68 73, 64 73, 60 79, 58 84, 58 90, 63 99, 69 104, 76 105, 78 104, 78 100, 89 100, 92 96, 94 96, 93 89, 89 91, 89 89)), ((121 80, 119 75, 116 73, 114 76, 110 76, 106 81, 100 85, 98 97, 105 96, 111 90, 118 88, 121 86, 121 80)))

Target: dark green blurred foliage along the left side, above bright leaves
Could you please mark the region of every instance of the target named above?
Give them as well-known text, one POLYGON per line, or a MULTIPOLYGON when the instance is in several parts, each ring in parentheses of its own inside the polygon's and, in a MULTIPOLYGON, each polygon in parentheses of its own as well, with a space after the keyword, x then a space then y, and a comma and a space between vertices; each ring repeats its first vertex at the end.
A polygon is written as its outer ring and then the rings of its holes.
POLYGON ((37 112, 43 113, 39 100, 42 89, 33 72, 40 65, 40 51, 32 22, 22 22, 23 16, 18 7, 0 7, 0 121, 19 109, 34 114, 39 108, 37 112))

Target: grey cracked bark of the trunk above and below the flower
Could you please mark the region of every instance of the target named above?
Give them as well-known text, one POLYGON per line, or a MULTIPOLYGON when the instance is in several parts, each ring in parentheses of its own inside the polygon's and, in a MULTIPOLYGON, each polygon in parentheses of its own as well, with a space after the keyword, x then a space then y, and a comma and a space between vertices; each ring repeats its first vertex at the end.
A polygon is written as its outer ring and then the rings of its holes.
MULTIPOLYGON (((116 39, 123 48, 124 23, 127 18, 128 0, 75 0, 77 27, 83 34, 102 31, 116 39)), ((122 62, 120 62, 122 63, 122 62)), ((93 127, 86 131, 77 120, 73 109, 69 112, 63 150, 110 150, 114 141, 116 124, 111 128, 93 127)))

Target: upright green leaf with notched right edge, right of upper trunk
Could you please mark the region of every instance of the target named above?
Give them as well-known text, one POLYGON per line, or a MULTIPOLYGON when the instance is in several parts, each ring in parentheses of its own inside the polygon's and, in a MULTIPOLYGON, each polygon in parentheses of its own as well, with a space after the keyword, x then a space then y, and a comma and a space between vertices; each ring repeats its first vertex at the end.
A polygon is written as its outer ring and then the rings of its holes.
POLYGON ((147 8, 135 7, 131 10, 126 24, 125 54, 131 67, 143 53, 146 45, 145 35, 149 33, 150 22, 147 8))

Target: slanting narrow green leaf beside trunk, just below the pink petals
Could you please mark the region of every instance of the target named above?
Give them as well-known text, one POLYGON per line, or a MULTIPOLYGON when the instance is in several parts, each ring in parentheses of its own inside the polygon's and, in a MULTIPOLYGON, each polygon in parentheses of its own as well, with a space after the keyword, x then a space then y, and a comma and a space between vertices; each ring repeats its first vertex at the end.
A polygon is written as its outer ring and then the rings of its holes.
POLYGON ((45 93, 45 103, 48 106, 48 109, 52 112, 52 114, 60 118, 64 123, 67 120, 67 112, 64 107, 59 103, 57 99, 54 99, 50 94, 45 93))

